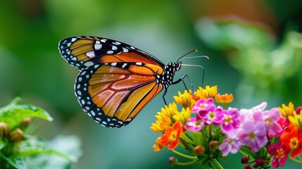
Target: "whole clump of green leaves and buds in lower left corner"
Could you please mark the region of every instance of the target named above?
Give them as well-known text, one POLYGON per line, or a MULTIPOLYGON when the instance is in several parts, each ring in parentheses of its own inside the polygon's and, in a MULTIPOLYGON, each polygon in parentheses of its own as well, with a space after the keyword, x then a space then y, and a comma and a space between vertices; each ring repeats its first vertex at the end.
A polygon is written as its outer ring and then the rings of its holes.
POLYGON ((19 101, 0 108, 0 168, 68 168, 76 162, 82 154, 77 137, 60 135, 47 141, 24 134, 28 118, 52 118, 42 108, 19 101))

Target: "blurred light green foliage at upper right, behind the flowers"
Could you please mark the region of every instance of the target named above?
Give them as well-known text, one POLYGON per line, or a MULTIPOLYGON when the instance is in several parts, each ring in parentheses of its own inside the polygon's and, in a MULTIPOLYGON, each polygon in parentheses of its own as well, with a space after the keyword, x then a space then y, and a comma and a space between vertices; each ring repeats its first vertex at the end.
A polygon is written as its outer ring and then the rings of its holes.
POLYGON ((227 54, 229 62, 241 74, 238 92, 244 101, 255 95, 278 93, 288 96, 285 100, 302 101, 302 34, 297 28, 287 25, 284 37, 277 42, 268 30, 236 20, 216 22, 210 19, 199 21, 201 39, 211 48, 227 54), (211 33, 208 33, 211 30, 211 33), (294 85, 289 89, 289 85, 294 85))

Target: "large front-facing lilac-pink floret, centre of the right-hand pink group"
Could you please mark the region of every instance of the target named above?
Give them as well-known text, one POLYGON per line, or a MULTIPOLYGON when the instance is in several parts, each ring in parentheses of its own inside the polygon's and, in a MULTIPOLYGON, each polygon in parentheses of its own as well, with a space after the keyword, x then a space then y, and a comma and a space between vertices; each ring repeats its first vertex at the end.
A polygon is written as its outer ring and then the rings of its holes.
POLYGON ((243 144, 247 144, 254 152, 259 151, 262 146, 268 143, 265 124, 261 122, 255 124, 251 120, 246 120, 237 136, 243 144))

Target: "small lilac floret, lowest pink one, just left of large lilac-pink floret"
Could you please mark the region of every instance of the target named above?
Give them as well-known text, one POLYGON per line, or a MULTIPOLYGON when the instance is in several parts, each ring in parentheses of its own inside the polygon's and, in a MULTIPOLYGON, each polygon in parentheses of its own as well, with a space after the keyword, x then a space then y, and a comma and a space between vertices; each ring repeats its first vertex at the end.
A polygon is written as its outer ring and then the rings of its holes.
POLYGON ((231 130, 225 135, 225 140, 218 147, 222 151, 222 156, 227 156, 229 153, 236 154, 241 148, 242 144, 239 142, 236 132, 236 130, 231 130))

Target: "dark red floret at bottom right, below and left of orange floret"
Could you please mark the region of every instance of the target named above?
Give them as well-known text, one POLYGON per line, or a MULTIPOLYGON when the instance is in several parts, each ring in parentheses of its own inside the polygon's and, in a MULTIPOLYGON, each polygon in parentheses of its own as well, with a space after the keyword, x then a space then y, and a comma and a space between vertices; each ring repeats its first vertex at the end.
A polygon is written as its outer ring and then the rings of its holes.
POLYGON ((287 161, 287 153, 284 151, 280 140, 277 144, 270 144, 268 146, 268 153, 274 156, 274 158, 272 158, 272 168, 283 166, 287 161))

